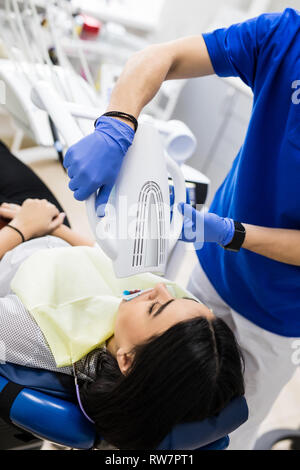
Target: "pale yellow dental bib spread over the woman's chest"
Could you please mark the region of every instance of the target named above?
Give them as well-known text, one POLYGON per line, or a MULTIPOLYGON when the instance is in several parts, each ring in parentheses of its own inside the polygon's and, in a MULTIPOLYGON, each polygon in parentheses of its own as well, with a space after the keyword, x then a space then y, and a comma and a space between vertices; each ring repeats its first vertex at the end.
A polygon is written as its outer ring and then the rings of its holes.
POLYGON ((116 279, 99 248, 40 250, 18 269, 11 282, 42 330, 57 367, 77 362, 114 333, 124 290, 148 289, 163 282, 174 297, 192 297, 176 283, 153 274, 116 279))

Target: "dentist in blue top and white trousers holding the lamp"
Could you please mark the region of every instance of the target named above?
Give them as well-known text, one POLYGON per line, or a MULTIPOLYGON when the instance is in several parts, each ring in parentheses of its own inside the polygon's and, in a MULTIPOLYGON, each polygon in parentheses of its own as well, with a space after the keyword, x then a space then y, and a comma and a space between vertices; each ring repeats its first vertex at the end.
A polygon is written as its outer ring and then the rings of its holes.
POLYGON ((265 14, 138 52, 125 66, 108 114, 97 120, 93 134, 70 148, 65 167, 76 199, 101 188, 97 205, 104 215, 136 119, 162 82, 214 73, 240 77, 253 91, 253 110, 245 142, 209 212, 181 204, 183 239, 204 240, 189 289, 227 321, 244 353, 250 419, 233 433, 231 448, 251 449, 297 367, 300 12, 265 14))

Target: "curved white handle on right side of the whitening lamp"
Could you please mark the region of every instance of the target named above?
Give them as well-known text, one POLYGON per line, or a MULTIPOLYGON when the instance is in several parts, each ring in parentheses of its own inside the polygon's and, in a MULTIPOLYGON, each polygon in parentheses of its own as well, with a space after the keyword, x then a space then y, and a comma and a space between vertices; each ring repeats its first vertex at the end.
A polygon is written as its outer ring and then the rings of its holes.
POLYGON ((178 209, 180 202, 186 201, 185 179, 177 163, 166 153, 167 170, 174 183, 173 218, 170 226, 169 256, 173 251, 182 231, 183 215, 178 209))

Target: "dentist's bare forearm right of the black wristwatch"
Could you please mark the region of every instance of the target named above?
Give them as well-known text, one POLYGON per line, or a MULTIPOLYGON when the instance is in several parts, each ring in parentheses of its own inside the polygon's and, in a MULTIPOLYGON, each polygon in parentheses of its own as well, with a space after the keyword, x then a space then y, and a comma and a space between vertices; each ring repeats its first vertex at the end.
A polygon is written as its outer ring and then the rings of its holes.
POLYGON ((300 230, 243 225, 246 229, 243 248, 280 263, 300 266, 300 230))

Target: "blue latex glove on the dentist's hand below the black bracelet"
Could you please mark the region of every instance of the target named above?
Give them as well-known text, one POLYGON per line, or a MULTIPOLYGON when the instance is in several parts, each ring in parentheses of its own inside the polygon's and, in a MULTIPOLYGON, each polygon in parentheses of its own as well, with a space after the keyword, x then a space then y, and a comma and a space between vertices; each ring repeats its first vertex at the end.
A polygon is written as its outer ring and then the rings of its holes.
POLYGON ((125 122, 102 116, 95 131, 70 147, 65 156, 64 167, 71 178, 69 188, 75 199, 84 201, 101 188, 96 198, 100 217, 105 215, 105 206, 133 138, 134 130, 125 122))

